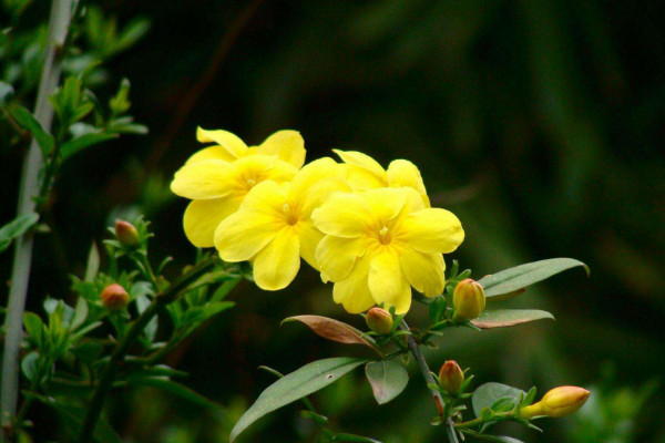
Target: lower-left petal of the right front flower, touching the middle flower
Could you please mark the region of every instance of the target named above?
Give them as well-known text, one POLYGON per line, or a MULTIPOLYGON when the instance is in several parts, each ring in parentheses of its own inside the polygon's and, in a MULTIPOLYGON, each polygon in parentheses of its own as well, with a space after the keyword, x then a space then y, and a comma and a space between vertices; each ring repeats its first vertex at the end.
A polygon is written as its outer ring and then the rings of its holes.
POLYGON ((316 262, 324 281, 339 281, 348 277, 356 259, 365 254, 366 238, 325 236, 316 248, 316 262))

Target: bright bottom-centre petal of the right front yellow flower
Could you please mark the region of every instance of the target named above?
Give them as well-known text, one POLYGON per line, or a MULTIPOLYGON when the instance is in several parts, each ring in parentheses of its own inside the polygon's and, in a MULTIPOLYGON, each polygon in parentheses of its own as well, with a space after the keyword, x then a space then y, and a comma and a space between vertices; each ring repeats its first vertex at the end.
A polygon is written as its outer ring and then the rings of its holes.
POLYGON ((405 313, 411 306, 411 287, 402 274, 395 249, 383 248, 374 255, 369 265, 369 290, 375 301, 396 313, 405 313))

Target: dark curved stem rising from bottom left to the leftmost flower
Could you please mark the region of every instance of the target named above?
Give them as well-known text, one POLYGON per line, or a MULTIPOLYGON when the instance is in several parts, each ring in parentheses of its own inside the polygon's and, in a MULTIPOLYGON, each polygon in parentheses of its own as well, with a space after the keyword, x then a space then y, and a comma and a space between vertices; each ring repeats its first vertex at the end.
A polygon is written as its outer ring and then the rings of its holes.
POLYGON ((153 317, 160 313, 160 311, 164 309, 166 305, 168 305, 170 302, 178 298, 184 291, 186 291, 187 287, 194 280, 201 277, 202 274, 206 272, 209 268, 212 268, 213 265, 214 261, 212 259, 204 260, 196 265, 192 270, 190 270, 187 274, 174 281, 171 286, 168 286, 168 288, 166 288, 163 292, 157 293, 153 299, 152 303, 143 311, 143 313, 136 319, 136 321, 132 323, 132 327, 130 328, 127 333, 117 343, 117 346, 113 350, 113 353, 111 353, 109 364, 102 373, 99 384, 96 385, 92 394, 92 399, 90 401, 85 419, 83 420, 81 435, 79 437, 79 441, 81 443, 91 441, 94 427, 102 413, 106 394, 109 394, 109 391, 111 391, 115 377, 117 375, 117 372, 122 369, 124 364, 125 354, 134 344, 143 329, 145 329, 145 327, 153 319, 153 317))

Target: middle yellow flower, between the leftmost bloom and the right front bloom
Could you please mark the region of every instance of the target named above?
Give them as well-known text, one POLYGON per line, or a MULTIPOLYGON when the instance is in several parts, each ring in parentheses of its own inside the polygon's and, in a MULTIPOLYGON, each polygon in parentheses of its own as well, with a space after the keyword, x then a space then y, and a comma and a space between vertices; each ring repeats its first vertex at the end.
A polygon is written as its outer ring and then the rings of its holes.
POLYGON ((324 235, 311 212, 331 193, 349 192, 346 171, 332 158, 306 165, 291 184, 265 181, 248 194, 237 213, 223 220, 215 247, 226 261, 252 260, 262 289, 287 287, 298 274, 300 257, 316 268, 314 251, 324 235))

